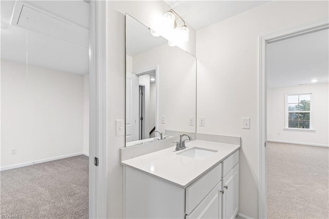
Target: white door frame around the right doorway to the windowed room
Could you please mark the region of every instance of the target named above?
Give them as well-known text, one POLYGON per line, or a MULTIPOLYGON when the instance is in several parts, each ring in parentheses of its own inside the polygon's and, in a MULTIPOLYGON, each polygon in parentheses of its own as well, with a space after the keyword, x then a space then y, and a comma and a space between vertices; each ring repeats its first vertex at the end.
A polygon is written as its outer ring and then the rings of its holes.
POLYGON ((266 45, 293 38, 298 35, 311 33, 329 28, 329 19, 304 24, 298 27, 282 30, 260 36, 260 56, 259 56, 259 218, 267 218, 267 151, 266 151, 266 45))

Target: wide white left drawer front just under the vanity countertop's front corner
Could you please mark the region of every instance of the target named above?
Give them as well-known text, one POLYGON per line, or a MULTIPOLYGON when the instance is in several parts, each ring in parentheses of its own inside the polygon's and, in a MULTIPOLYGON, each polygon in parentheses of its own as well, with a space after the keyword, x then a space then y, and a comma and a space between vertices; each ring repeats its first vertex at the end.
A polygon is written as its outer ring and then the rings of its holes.
POLYGON ((185 191, 185 212, 192 210, 207 196, 207 194, 221 181, 222 163, 217 165, 202 178, 193 182, 185 191))

